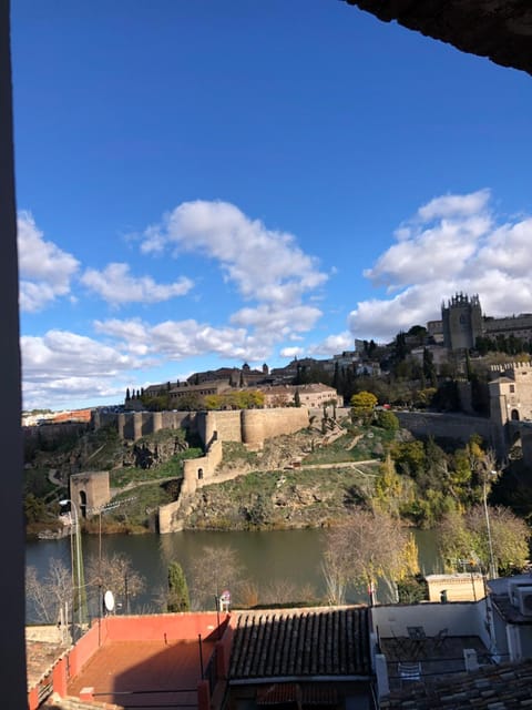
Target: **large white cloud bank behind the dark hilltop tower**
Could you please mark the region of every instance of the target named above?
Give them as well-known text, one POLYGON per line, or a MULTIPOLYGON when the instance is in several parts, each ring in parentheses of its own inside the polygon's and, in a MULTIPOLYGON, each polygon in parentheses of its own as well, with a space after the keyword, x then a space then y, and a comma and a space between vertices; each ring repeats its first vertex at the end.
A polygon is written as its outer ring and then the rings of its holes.
POLYGON ((355 337, 391 339, 441 317, 457 292, 479 294, 484 314, 530 312, 532 219, 498 224, 490 192, 436 197, 402 224, 397 243, 365 275, 388 286, 387 298, 361 301, 348 323, 355 337))

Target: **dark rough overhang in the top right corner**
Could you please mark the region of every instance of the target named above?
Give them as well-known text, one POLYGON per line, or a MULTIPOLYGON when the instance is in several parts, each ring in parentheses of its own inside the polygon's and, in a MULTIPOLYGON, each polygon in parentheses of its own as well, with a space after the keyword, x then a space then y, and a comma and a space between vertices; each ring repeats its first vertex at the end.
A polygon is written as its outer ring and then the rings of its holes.
POLYGON ((532 73, 529 0, 345 0, 497 64, 532 73))

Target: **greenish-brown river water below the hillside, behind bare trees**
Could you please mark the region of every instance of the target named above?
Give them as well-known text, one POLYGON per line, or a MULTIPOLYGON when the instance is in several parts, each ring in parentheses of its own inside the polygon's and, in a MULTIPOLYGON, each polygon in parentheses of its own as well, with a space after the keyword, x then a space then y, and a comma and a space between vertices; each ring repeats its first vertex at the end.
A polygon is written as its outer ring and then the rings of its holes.
MULTIPOLYGON (((417 530, 415 535, 421 570, 424 574, 441 571, 434 532, 417 530)), ((162 536, 102 536, 103 555, 125 554, 131 559, 133 568, 146 580, 146 591, 130 601, 132 612, 160 611, 157 602, 161 590, 166 585, 168 562, 177 560, 186 576, 193 560, 202 555, 202 548, 205 546, 231 546, 245 569, 245 577, 253 580, 259 591, 272 592, 274 586, 286 586, 288 582, 296 589, 311 588, 315 599, 320 599, 326 594, 320 569, 323 530, 183 531, 162 536)), ((98 558, 98 536, 82 535, 82 547, 85 564, 90 557, 98 558)), ((70 539, 28 541, 25 557, 27 565, 35 567, 40 577, 47 574, 51 558, 61 559, 70 569, 70 539)), ((367 596, 361 589, 351 590, 348 601, 367 601, 367 596)), ((32 616, 31 610, 28 610, 29 622, 35 620, 32 616)))

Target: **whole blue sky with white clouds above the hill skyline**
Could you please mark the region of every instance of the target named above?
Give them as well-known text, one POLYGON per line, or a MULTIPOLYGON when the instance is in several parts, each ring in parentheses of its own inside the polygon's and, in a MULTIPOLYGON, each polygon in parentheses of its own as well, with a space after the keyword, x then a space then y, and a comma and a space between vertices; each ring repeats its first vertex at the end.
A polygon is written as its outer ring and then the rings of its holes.
POLYGON ((532 312, 532 79, 339 0, 12 3, 23 406, 532 312))

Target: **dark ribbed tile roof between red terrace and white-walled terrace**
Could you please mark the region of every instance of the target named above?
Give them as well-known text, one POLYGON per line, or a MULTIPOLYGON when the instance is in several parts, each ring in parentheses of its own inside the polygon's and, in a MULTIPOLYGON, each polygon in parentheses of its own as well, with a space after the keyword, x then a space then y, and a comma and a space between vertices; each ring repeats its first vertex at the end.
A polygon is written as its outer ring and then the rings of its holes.
POLYGON ((229 679, 370 676, 366 607, 242 612, 229 679))

